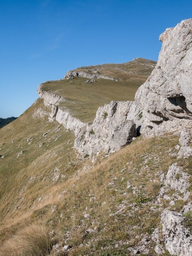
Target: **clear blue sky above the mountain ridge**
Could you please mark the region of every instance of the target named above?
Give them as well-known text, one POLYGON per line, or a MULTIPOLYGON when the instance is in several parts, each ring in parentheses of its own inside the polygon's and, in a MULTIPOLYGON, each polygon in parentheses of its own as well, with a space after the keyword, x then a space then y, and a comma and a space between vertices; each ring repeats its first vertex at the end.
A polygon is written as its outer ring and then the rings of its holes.
POLYGON ((157 60, 160 33, 191 17, 191 0, 0 0, 0 117, 69 69, 157 60))

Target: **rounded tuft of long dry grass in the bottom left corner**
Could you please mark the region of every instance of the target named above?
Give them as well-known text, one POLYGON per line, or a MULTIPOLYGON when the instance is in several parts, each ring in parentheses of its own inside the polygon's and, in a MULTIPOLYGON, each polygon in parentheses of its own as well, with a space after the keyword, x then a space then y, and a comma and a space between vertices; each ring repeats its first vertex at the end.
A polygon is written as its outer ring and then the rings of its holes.
POLYGON ((44 256, 49 254, 50 247, 50 237, 44 226, 30 225, 0 247, 0 256, 44 256))

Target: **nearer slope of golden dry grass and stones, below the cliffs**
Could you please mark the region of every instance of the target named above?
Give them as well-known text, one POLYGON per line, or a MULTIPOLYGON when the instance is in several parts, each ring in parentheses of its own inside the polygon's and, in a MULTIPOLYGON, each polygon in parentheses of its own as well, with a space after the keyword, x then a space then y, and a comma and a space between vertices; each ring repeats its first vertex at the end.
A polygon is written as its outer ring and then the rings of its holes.
MULTIPOLYGON (((11 219, 12 224, 14 223, 18 230, 27 222, 43 223, 49 226, 50 230, 56 231, 54 239, 62 246, 65 245, 63 237, 69 231, 70 237, 67 244, 72 246, 69 255, 91 254, 91 248, 79 247, 80 244, 86 245, 89 241, 93 241, 93 250, 97 253, 95 255, 100 255, 101 247, 105 248, 104 252, 112 253, 116 250, 112 249, 116 243, 129 241, 127 245, 122 245, 117 249, 120 255, 125 255, 129 246, 137 245, 139 240, 134 238, 136 234, 141 237, 146 232, 151 234, 155 225, 158 225, 159 213, 150 210, 155 201, 156 188, 159 183, 159 179, 156 178, 154 181, 154 177, 158 171, 167 171, 173 161, 173 157, 167 154, 167 150, 170 147, 174 148, 177 141, 178 138, 171 135, 150 139, 139 137, 129 146, 108 158, 102 159, 100 155, 94 167, 87 171, 83 167, 92 166, 92 164, 90 160, 85 160, 63 182, 54 183, 52 179, 49 179, 46 184, 38 183, 37 180, 26 190, 27 200, 25 200, 24 208, 12 210, 13 216, 15 214, 14 222, 9 216, 7 220, 11 219), (159 152, 161 155, 155 160, 159 152), (143 168, 145 165, 148 168, 143 168), (109 185, 111 182, 114 182, 114 185, 109 185), (126 188, 127 182, 139 189, 138 196, 126 188), (140 188, 141 185, 144 185, 144 188, 140 188), (64 190, 65 193, 59 199, 59 195, 64 190), (39 191, 41 191, 40 194, 39 191), (38 201, 39 196, 46 197, 46 200, 38 201), (27 201, 34 203, 28 207, 27 201), (122 202, 126 202, 126 208, 117 214, 122 202), (146 202, 150 202, 150 205, 146 202), (132 207, 129 206, 132 204, 139 208, 133 216, 132 207), (53 207, 55 207, 54 211, 52 211, 53 207), (24 214, 24 209, 28 210, 28 215, 24 214), (84 218, 85 213, 90 214, 88 219, 84 218), (21 221, 22 225, 18 226, 21 221), (94 233, 86 234, 89 228, 94 229, 94 233)), ((57 158, 59 161, 62 151, 57 154, 59 154, 57 158)), ((74 168, 74 166, 70 165, 68 168, 74 168)), ((38 172, 33 170, 32 173, 34 175, 38 172)), ((46 172, 43 174, 44 177, 50 175, 46 172)), ((12 228, 13 226, 10 226, 10 229, 12 228)), ((11 231, 9 236, 10 234, 11 231)), ((152 248, 150 250, 153 252, 152 248)), ((54 251, 51 255, 54 255, 54 251)))

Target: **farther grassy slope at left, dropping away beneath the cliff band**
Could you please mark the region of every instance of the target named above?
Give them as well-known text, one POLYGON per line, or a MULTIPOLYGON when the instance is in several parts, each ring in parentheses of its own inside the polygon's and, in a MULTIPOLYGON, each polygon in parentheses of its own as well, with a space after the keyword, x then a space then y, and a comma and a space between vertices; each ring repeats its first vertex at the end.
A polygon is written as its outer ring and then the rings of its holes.
POLYGON ((28 215, 30 209, 44 204, 43 199, 40 203, 36 203, 36 199, 45 193, 49 195, 48 191, 54 184, 55 168, 60 174, 66 174, 63 180, 73 170, 70 165, 75 158, 71 149, 73 133, 66 132, 57 123, 49 123, 47 115, 33 118, 39 108, 45 109, 42 100, 0 130, 0 152, 5 155, 5 158, 0 158, 0 216, 4 225, 11 224, 12 220, 15 222, 15 218, 24 213, 28 215), (45 132, 48 134, 43 136, 45 132), (28 138, 33 139, 27 142, 28 138), (24 153, 17 158, 21 150, 24 153))

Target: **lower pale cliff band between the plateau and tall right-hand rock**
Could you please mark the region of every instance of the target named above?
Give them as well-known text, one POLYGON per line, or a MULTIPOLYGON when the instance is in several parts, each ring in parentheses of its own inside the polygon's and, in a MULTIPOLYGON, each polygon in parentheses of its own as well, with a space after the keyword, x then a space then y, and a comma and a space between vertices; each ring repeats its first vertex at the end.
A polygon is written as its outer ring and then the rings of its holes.
POLYGON ((115 152, 136 137, 136 125, 126 119, 127 109, 124 102, 112 101, 98 108, 93 124, 89 125, 74 118, 67 110, 52 105, 49 118, 74 131, 74 148, 79 154, 93 156, 98 152, 115 152))

